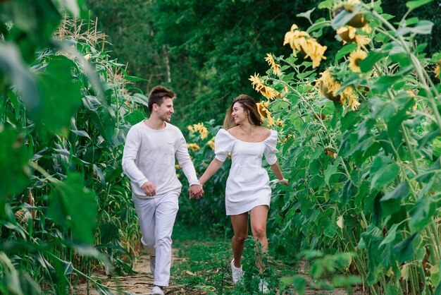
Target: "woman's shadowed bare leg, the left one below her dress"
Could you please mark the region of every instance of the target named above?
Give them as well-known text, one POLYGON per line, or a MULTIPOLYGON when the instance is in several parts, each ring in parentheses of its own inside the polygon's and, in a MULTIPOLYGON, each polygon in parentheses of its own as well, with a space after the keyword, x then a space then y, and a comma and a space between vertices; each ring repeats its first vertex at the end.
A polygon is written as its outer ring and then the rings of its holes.
POLYGON ((232 237, 231 247, 232 255, 235 259, 235 267, 240 267, 242 260, 242 253, 244 252, 245 240, 248 235, 248 212, 240 215, 231 215, 232 230, 234 236, 232 237))

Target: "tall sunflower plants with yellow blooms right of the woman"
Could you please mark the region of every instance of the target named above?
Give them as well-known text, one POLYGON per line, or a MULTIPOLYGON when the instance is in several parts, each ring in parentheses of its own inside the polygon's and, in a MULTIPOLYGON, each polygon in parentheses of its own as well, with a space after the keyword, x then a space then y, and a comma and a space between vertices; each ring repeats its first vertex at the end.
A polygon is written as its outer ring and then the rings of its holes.
POLYGON ((356 253, 349 270, 372 294, 441 288, 440 54, 428 58, 415 42, 433 23, 407 18, 428 2, 407 2, 392 24, 379 2, 323 1, 330 19, 302 13, 309 29, 285 35, 294 55, 268 56, 266 76, 250 79, 268 99, 266 116, 285 124, 281 162, 292 185, 275 198, 282 230, 273 240, 356 253), (319 74, 329 26, 344 46, 319 74))

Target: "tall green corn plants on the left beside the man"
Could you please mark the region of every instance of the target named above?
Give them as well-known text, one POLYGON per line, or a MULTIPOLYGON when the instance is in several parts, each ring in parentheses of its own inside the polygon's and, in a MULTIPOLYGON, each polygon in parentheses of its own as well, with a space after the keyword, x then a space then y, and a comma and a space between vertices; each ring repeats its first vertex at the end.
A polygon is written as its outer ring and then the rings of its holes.
MULTIPOLYGON (((76 2, 64 8, 80 13, 76 2)), ((144 118, 146 97, 130 87, 141 79, 101 51, 94 23, 58 27, 58 1, 0 9, 1 293, 66 294, 82 278, 110 294, 91 267, 130 271, 137 250, 120 159, 131 122, 144 118)))

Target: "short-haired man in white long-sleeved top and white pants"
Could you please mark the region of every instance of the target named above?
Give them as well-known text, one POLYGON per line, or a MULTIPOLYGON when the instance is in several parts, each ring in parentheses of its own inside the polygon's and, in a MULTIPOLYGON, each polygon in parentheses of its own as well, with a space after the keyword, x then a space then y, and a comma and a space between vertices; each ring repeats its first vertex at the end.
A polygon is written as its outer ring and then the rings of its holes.
POLYGON ((178 212, 182 184, 175 171, 178 159, 190 183, 190 196, 204 194, 187 150, 182 132, 169 124, 175 93, 162 86, 149 94, 149 119, 130 128, 124 152, 123 170, 130 178, 132 199, 142 231, 141 242, 150 253, 154 287, 151 294, 164 294, 171 265, 171 234, 178 212))

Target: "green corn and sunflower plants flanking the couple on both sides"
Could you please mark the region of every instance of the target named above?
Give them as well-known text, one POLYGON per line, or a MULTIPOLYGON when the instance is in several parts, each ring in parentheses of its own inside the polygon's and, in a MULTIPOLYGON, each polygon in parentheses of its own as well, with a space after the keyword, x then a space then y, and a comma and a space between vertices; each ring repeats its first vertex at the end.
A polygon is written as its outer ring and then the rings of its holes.
MULTIPOLYGON (((139 251, 121 158, 147 80, 109 55, 83 2, 0 1, 1 294, 72 294, 82 282, 113 294, 92 272, 127 274, 139 251)), ((290 182, 273 184, 268 239, 274 255, 309 263, 312 280, 282 278, 299 294, 441 294, 441 52, 426 53, 434 23, 412 14, 431 2, 407 1, 397 19, 381 1, 321 1, 279 36, 290 54, 268 52, 267 71, 248 74, 290 182)), ((204 105, 206 121, 183 130, 198 174, 221 128, 204 105)), ((228 227, 228 171, 199 202, 181 198, 185 224, 228 227)))

